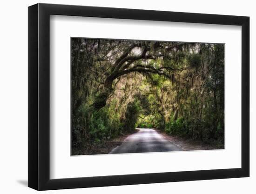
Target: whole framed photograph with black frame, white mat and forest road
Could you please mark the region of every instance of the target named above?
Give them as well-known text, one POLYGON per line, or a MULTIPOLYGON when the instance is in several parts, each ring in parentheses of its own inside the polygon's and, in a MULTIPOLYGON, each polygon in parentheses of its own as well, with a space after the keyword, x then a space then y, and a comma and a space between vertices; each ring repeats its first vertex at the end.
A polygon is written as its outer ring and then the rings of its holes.
POLYGON ((249 17, 28 7, 28 187, 249 176, 249 17))

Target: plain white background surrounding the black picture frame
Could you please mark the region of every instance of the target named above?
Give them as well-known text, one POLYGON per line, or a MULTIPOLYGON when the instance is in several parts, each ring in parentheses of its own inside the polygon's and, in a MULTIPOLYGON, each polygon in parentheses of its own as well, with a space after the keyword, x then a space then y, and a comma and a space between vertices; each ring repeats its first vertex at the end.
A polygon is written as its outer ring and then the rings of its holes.
MULTIPOLYGON (((253 194, 256 192, 256 12, 252 0, 40 0, 41 3, 123 7, 177 12, 250 16, 250 178, 146 184, 46 191, 60 194, 196 193, 253 194)), ((27 187, 27 7, 36 0, 2 1, 0 7, 0 192, 36 193, 27 187)))

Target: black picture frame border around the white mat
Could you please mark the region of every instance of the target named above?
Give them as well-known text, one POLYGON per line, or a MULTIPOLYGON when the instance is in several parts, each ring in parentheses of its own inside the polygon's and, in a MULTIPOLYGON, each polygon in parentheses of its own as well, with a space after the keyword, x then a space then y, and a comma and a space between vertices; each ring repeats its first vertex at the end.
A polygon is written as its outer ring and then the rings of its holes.
POLYGON ((249 176, 249 17, 107 7, 28 7, 28 187, 52 190, 249 176), (50 15, 242 26, 242 167, 217 170, 50 179, 50 15))

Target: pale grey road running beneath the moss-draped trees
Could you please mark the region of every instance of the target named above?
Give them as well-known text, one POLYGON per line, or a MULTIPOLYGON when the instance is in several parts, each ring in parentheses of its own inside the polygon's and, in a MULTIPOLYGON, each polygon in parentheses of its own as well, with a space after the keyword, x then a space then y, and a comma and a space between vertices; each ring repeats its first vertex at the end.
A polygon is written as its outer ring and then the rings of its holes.
POLYGON ((137 133, 129 135, 123 143, 109 154, 182 151, 182 149, 155 129, 136 128, 137 133))

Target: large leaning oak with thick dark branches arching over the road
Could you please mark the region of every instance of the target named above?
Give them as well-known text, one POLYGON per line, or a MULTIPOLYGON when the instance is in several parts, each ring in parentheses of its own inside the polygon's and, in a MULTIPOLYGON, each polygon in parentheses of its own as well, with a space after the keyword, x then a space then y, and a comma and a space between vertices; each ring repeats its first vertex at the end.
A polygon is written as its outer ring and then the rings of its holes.
MULTIPOLYGON (((96 52, 100 49, 100 41, 95 44, 96 52), (97 48, 96 48, 97 47, 97 48)), ((106 40, 105 40, 106 41, 106 40)), ((171 66, 156 67, 151 60, 165 60, 171 58, 171 50, 181 47, 181 43, 162 43, 149 41, 124 41, 120 40, 118 45, 107 44, 107 51, 98 55, 96 61, 111 61, 113 64, 105 73, 104 88, 93 103, 98 110, 106 105, 108 96, 113 92, 113 81, 122 75, 132 72, 144 74, 159 74, 171 78, 172 74, 179 70, 171 66), (115 55, 113 55, 113 53, 115 55)), ((106 48, 105 48, 106 49, 106 48)))

